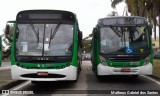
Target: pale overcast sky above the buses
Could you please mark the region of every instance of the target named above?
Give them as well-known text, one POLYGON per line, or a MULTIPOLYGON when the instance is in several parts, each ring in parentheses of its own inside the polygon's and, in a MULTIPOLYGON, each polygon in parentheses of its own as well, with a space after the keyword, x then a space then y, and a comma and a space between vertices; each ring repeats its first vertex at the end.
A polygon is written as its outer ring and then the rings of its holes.
MULTIPOLYGON (((125 3, 116 7, 119 15, 123 14, 125 3)), ((21 10, 55 9, 74 12, 79 21, 83 37, 88 36, 99 18, 106 17, 114 9, 111 0, 1 0, 0 1, 0 35, 6 22, 15 20, 21 10)))

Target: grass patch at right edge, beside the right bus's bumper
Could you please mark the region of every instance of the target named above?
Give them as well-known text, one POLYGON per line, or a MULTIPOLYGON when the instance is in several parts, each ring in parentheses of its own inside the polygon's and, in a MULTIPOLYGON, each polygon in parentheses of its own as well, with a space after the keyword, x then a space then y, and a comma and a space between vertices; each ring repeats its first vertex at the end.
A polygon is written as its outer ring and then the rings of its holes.
POLYGON ((160 78, 160 59, 153 60, 153 75, 160 78))

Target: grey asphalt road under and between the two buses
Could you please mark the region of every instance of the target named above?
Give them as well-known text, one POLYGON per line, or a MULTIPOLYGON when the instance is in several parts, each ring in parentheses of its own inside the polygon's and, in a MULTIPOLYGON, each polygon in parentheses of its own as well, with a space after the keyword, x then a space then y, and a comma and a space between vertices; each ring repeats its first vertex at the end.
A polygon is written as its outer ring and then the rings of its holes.
MULTIPOLYGON (((2 72, 0 77, 10 79, 9 73, 10 70, 2 72)), ((79 94, 78 96, 106 96, 107 92, 110 93, 114 90, 125 92, 126 90, 160 91, 160 85, 143 76, 139 76, 137 79, 133 79, 130 76, 107 76, 99 80, 91 70, 91 62, 83 61, 82 71, 77 82, 50 82, 37 85, 29 83, 20 90, 33 91, 36 93, 34 96, 46 96, 46 94, 47 96, 77 96, 77 94, 79 94)))

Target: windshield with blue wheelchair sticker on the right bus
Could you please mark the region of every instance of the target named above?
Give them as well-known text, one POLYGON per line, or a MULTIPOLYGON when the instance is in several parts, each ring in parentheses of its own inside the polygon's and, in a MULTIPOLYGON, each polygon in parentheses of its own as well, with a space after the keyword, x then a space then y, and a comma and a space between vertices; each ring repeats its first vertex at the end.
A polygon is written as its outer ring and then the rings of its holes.
POLYGON ((149 52, 146 26, 107 26, 100 28, 103 54, 141 54, 149 52))

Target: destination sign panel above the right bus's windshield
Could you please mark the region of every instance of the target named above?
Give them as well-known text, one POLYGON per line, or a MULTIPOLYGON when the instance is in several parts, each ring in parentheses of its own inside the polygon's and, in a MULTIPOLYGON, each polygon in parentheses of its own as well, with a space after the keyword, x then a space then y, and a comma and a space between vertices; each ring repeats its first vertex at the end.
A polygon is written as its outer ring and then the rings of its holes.
POLYGON ((99 26, 118 26, 118 25, 147 25, 147 21, 144 17, 140 16, 113 16, 101 18, 98 21, 99 26))

